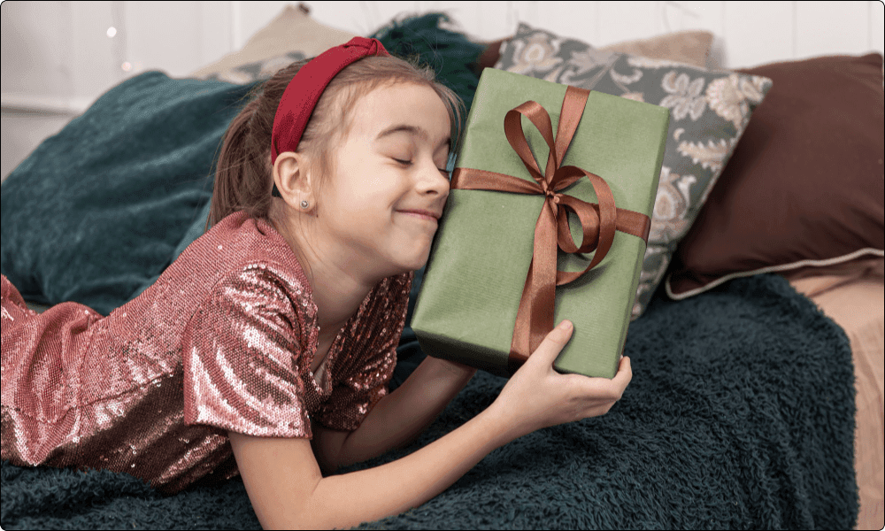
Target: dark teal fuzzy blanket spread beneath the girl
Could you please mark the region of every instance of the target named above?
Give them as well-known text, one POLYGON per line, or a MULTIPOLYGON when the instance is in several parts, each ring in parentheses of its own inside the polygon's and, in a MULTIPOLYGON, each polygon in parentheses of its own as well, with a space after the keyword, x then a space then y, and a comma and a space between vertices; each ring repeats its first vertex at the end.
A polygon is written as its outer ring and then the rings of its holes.
MULTIPOLYGON (((850 528, 857 517, 848 341, 787 281, 655 300, 630 327, 634 379, 603 417, 493 451, 376 528, 850 528)), ((478 373, 412 447, 488 406, 478 373)), ((354 467, 358 468, 358 467, 354 467)), ((161 496, 108 472, 3 465, 6 528, 258 527, 242 481, 161 496)))

